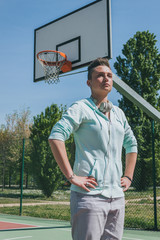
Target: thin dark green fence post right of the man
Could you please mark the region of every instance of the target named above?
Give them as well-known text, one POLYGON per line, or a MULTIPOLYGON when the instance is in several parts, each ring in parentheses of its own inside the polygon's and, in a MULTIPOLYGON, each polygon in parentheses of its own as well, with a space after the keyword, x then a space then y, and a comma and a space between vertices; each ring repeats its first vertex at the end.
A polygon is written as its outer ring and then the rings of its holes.
POLYGON ((153 160, 153 194, 154 194, 154 230, 157 228, 157 203, 156 203, 156 161, 155 161, 155 136, 154 136, 154 120, 151 120, 152 126, 152 160, 153 160))

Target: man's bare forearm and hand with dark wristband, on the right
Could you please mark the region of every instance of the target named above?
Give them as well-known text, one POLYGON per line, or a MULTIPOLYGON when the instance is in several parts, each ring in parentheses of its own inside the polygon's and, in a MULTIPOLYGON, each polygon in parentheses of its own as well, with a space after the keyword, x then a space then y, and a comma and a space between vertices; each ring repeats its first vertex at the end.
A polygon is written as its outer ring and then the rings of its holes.
POLYGON ((124 187, 123 191, 127 191, 130 187, 133 179, 134 169, 137 160, 137 153, 127 153, 126 154, 126 166, 124 177, 121 178, 121 186, 124 187))

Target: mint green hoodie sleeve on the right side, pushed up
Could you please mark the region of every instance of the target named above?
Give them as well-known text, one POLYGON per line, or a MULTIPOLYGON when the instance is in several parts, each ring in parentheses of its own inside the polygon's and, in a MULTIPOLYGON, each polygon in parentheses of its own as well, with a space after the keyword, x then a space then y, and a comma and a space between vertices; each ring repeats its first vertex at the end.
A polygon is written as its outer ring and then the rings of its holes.
POLYGON ((123 121, 124 121, 124 131, 125 131, 123 147, 126 150, 126 154, 131 152, 137 152, 137 140, 133 134, 133 131, 130 125, 128 124, 128 121, 124 113, 123 113, 123 121))

